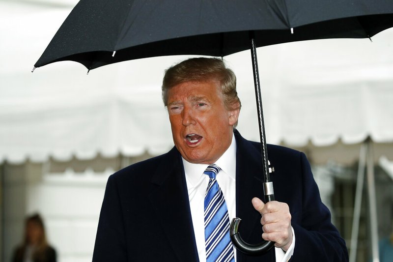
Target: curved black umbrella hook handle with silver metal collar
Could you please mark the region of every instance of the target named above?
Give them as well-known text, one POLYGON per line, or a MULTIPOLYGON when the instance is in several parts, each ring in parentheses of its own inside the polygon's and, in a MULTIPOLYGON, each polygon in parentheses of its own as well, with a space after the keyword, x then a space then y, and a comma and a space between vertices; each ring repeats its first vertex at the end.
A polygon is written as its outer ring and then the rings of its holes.
MULTIPOLYGON (((273 193, 273 182, 263 183, 263 189, 265 191, 265 201, 270 202, 274 200, 274 193, 273 193)), ((269 251, 275 244, 273 241, 266 241, 263 240, 259 244, 249 244, 246 243, 239 233, 239 224, 242 221, 240 218, 233 218, 230 222, 229 234, 230 239, 232 240, 233 245, 236 247, 237 250, 245 254, 250 255, 258 255, 263 254, 269 251)))

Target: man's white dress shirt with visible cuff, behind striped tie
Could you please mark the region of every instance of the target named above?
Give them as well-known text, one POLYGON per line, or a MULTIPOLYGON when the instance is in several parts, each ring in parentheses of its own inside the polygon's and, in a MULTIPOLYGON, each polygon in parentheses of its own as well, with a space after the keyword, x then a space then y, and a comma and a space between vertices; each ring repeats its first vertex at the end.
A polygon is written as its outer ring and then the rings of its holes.
MULTIPOLYGON (((184 158, 182 158, 182 160, 186 174, 188 197, 190 200, 191 216, 193 219, 199 261, 206 262, 204 199, 207 184, 209 183, 209 176, 204 175, 203 172, 208 165, 192 164, 187 162, 184 158)), ((231 221, 232 218, 236 217, 236 141, 234 135, 232 136, 231 145, 215 164, 221 168, 216 179, 223 191, 226 206, 228 207, 229 221, 231 221)), ((284 253, 281 248, 275 248, 276 262, 287 261, 293 254, 294 246, 295 234, 293 234, 292 244, 286 253, 284 253)), ((236 261, 236 248, 234 248, 234 252, 236 261)))

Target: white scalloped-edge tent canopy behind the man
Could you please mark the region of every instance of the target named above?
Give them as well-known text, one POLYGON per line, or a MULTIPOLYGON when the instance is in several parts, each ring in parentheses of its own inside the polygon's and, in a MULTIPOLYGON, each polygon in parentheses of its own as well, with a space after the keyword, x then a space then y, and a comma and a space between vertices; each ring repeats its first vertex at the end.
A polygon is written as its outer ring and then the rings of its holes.
MULTIPOLYGON (((0 42, 0 162, 160 154, 172 147, 161 80, 168 66, 188 57, 121 62, 88 75, 78 63, 58 62, 31 73, 72 7, 69 1, 34 3, 0 2, 6 35, 0 42)), ((310 153, 336 148, 317 161, 351 162, 357 145, 370 137, 384 148, 380 155, 392 159, 392 45, 388 29, 372 42, 327 39, 258 48, 267 142, 310 153)), ((238 78, 238 129, 258 141, 250 52, 225 60, 238 78)))

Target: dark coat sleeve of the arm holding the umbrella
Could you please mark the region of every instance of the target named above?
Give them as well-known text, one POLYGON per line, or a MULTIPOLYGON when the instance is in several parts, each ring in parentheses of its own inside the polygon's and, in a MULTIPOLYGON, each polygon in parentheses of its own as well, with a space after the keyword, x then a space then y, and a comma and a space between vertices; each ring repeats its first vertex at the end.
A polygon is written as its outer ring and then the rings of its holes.
POLYGON ((304 153, 300 158, 303 176, 301 222, 292 222, 296 243, 291 262, 348 261, 345 241, 331 223, 330 211, 321 201, 309 161, 304 153))

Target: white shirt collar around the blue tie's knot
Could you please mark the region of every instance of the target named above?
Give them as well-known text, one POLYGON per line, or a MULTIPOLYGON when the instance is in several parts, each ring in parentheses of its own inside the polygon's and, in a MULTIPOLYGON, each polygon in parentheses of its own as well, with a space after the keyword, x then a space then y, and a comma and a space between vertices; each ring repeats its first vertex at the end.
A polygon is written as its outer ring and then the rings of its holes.
MULTIPOLYGON (((188 162, 182 157, 184 172, 186 174, 186 178, 191 183, 192 187, 196 187, 201 179, 200 177, 203 175, 203 172, 209 165, 206 164, 193 164, 188 162)), ((232 134, 232 141, 228 149, 224 152, 224 154, 215 162, 217 166, 219 166, 224 173, 232 177, 236 178, 236 140, 235 135, 232 134)))

